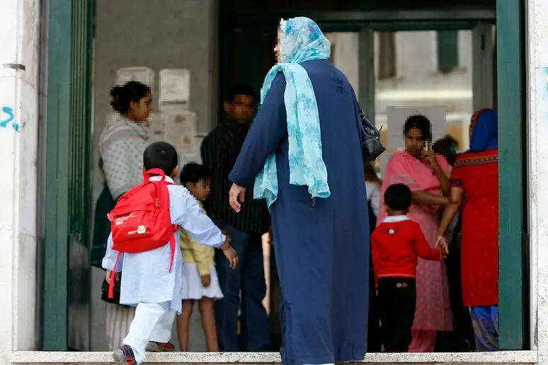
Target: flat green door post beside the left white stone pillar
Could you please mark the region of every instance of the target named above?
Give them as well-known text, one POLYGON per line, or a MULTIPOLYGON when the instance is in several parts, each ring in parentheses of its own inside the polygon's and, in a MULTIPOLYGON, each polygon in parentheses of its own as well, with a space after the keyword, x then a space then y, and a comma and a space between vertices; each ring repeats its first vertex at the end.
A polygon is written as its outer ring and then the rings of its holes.
POLYGON ((50 1, 49 11, 43 349, 62 351, 67 349, 69 300, 72 0, 50 1))

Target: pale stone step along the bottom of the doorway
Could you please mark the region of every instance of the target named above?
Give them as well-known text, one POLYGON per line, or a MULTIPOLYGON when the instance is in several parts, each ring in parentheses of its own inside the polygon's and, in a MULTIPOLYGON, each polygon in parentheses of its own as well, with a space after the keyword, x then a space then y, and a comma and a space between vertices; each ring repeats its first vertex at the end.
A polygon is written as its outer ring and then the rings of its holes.
MULTIPOLYGON (((0 361, 1 362, 1 361, 0 361)), ((14 365, 58 365, 113 364, 110 352, 39 352, 17 351, 11 353, 10 363, 14 365)), ((2 362, 2 364, 4 364, 2 362)), ((148 353, 145 364, 280 364, 277 352, 172 352, 148 353)), ((348 364, 363 365, 422 365, 422 364, 465 364, 465 365, 531 365, 537 364, 536 351, 464 352, 435 354, 367 354, 363 361, 348 364)))

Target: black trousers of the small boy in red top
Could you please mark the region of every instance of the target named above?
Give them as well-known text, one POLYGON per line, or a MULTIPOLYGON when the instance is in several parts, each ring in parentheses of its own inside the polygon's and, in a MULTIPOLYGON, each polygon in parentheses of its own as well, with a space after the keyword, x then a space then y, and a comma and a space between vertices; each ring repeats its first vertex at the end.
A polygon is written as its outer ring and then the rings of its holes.
POLYGON ((384 352, 408 352, 417 299, 415 279, 379 278, 378 298, 384 352))

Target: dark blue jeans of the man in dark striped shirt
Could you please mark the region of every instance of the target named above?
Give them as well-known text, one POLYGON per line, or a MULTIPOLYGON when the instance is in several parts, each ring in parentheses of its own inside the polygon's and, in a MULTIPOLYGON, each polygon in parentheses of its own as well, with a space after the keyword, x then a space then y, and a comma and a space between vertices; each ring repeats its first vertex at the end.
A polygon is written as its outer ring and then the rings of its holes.
POLYGON ((219 349, 224 352, 241 350, 238 346, 238 311, 241 309, 244 350, 267 351, 270 328, 263 306, 266 282, 261 236, 240 231, 233 226, 224 226, 224 229, 232 237, 230 244, 239 255, 239 264, 232 270, 222 251, 215 250, 219 285, 224 295, 223 299, 215 301, 219 349))

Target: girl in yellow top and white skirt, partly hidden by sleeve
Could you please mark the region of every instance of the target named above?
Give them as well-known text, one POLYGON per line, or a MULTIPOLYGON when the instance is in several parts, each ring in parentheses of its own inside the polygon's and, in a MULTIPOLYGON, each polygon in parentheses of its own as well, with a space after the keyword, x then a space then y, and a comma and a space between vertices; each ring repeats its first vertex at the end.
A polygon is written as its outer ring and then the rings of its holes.
MULTIPOLYGON (((181 184, 202 207, 202 202, 210 194, 210 173, 207 168, 198 163, 188 163, 181 170, 181 184)), ((179 228, 179 233, 183 253, 183 311, 177 318, 177 334, 181 351, 188 351, 190 315, 194 302, 198 301, 207 351, 219 352, 213 301, 221 299, 223 295, 215 270, 215 251, 200 245, 183 228, 179 228)))

